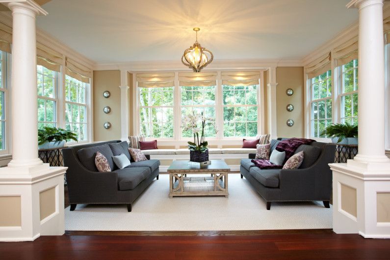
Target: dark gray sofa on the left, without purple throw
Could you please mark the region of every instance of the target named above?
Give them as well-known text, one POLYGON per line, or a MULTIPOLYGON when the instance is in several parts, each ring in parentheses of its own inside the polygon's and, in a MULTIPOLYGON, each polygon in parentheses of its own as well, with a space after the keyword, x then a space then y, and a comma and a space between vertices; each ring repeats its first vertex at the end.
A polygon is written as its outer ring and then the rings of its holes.
POLYGON ((68 185, 71 211, 77 204, 127 204, 131 211, 134 200, 153 182, 158 180, 159 160, 134 162, 128 151, 129 144, 119 140, 77 145, 62 150, 64 165, 68 167, 68 185), (96 152, 108 160, 111 172, 98 172, 96 152), (112 156, 124 153, 131 165, 118 169, 112 156))

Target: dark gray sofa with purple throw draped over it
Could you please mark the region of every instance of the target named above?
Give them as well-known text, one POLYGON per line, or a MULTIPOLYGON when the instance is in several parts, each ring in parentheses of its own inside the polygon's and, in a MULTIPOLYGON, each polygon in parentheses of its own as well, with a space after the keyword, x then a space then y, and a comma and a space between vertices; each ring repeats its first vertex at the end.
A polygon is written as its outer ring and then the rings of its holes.
MULTIPOLYGON (((271 153, 280 140, 271 141, 271 153)), ((334 144, 312 142, 301 145, 295 153, 304 152, 304 160, 298 169, 263 169, 251 162, 255 154, 241 159, 241 178, 245 177, 267 203, 278 201, 322 201, 330 208, 332 171, 328 163, 335 161, 334 144)))

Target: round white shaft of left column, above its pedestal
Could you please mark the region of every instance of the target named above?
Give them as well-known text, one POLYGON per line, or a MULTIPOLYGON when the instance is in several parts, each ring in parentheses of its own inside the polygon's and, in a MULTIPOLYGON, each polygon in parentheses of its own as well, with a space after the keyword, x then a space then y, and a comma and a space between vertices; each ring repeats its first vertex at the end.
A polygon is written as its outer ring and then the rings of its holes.
POLYGON ((12 10, 12 160, 9 167, 42 164, 38 158, 35 16, 47 14, 39 6, 10 2, 12 10), (39 8, 37 8, 39 7, 39 8), (26 132, 28 130, 28 132, 26 132))

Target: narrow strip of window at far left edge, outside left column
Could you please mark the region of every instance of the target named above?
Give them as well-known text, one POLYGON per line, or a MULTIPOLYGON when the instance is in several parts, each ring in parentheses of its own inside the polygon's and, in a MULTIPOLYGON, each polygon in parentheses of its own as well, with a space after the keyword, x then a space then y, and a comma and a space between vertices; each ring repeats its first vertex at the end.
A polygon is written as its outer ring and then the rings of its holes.
POLYGON ((0 151, 7 151, 7 103, 8 103, 8 60, 10 54, 0 51, 0 151))

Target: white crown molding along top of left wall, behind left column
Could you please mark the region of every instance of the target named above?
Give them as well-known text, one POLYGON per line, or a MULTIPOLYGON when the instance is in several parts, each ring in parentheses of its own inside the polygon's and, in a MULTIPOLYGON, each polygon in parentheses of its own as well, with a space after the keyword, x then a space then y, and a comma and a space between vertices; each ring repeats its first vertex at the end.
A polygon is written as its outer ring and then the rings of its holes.
MULTIPOLYGON (((7 25, 12 27, 12 15, 11 12, 0 12, 0 21, 7 25)), ((66 46, 65 44, 61 43, 57 39, 55 39, 52 35, 49 33, 36 28, 36 38, 37 42, 42 43, 43 45, 53 49, 56 52, 59 52, 63 54, 64 56, 68 56, 72 58, 73 60, 77 61, 81 65, 84 65, 85 67, 89 69, 93 69, 95 66, 95 61, 88 59, 84 55, 82 55, 79 52, 76 52, 72 48, 66 46)))

